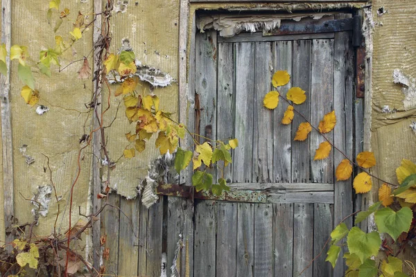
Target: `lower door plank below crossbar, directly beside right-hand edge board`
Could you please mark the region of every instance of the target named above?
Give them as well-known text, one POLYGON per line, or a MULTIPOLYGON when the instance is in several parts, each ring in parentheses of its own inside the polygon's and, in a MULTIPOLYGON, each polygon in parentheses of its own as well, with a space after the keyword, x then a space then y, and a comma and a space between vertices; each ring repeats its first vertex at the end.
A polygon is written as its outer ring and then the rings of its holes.
MULTIPOLYGON (((325 242, 330 238, 333 226, 331 210, 332 206, 330 204, 318 203, 315 204, 313 211, 313 221, 315 222, 313 224, 313 257, 318 257, 322 251, 321 255, 313 261, 313 276, 333 276, 331 263, 325 262, 329 243, 324 248, 325 242)), ((344 274, 343 272, 336 276, 343 276, 344 274)))

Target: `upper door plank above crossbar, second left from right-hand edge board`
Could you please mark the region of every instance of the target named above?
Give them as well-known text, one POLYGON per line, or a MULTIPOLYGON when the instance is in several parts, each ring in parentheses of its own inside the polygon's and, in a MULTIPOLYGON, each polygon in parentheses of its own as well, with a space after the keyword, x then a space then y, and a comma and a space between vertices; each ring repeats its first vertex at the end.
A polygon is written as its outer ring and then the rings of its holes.
MULTIPOLYGON (((306 91, 306 101, 296 107, 301 114, 310 120, 311 111, 311 41, 298 40, 293 42, 293 74, 292 86, 301 87, 306 91), (308 97, 309 96, 309 97, 308 97)), ((297 127, 304 119, 295 116, 292 121, 292 139, 295 138, 297 127)), ((292 143, 292 182, 310 183, 309 138, 305 141, 292 143)))

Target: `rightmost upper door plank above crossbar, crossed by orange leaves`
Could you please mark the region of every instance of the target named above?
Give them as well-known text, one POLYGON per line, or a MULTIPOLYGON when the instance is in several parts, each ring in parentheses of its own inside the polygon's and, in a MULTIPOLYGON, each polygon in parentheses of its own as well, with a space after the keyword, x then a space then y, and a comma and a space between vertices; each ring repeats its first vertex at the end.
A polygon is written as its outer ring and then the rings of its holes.
MULTIPOLYGON (((311 78, 311 125, 318 127, 325 114, 333 110, 333 40, 313 39, 311 78)), ((339 112, 339 111, 338 111, 339 112)), ((336 111, 337 113, 337 111, 336 111)), ((313 183, 333 181, 333 150, 327 159, 313 161, 315 151, 325 139, 311 132, 310 153, 313 183)), ((324 134, 333 142, 333 132, 324 134)))

